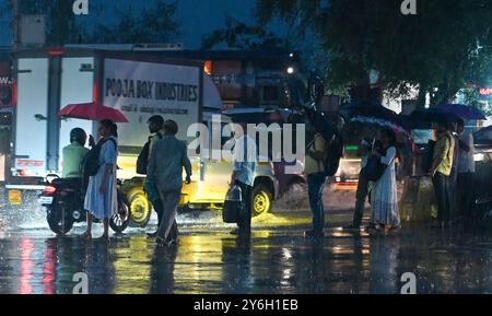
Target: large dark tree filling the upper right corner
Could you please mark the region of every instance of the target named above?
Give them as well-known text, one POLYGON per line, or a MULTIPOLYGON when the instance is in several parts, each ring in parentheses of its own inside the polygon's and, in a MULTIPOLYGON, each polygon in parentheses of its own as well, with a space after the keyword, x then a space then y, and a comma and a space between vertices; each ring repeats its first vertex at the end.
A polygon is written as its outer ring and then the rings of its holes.
POLYGON ((350 86, 355 98, 371 100, 370 73, 380 90, 406 95, 418 86, 419 101, 450 101, 466 84, 488 80, 492 56, 492 1, 419 1, 417 15, 403 15, 401 1, 261 0, 258 17, 309 16, 324 51, 332 86, 350 86), (298 13, 297 13, 298 14, 298 13))

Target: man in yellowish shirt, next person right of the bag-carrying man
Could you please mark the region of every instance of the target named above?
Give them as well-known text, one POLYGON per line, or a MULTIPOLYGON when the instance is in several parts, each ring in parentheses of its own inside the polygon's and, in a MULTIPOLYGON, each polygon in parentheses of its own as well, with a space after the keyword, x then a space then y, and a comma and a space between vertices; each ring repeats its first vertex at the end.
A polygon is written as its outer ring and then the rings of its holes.
POLYGON ((307 195, 313 212, 313 230, 304 232, 306 237, 323 237, 325 227, 325 207, 323 192, 325 189, 326 174, 324 161, 327 156, 328 144, 324 137, 315 132, 313 141, 308 144, 304 172, 307 175, 307 195))

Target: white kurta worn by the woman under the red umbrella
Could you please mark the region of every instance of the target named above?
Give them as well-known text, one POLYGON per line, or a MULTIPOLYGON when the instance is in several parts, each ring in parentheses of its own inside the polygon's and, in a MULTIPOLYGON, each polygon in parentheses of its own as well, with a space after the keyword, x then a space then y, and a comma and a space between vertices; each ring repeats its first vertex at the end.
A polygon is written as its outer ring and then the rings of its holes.
MULTIPOLYGON (((116 138, 114 138, 116 141, 116 138)), ((99 169, 95 176, 90 177, 87 192, 85 195, 84 208, 96 219, 109 219, 118 210, 116 188, 116 161, 118 156, 117 147, 110 140, 101 148, 99 169), (105 184, 106 192, 101 195, 99 187, 103 183, 106 165, 113 165, 113 173, 105 184)))

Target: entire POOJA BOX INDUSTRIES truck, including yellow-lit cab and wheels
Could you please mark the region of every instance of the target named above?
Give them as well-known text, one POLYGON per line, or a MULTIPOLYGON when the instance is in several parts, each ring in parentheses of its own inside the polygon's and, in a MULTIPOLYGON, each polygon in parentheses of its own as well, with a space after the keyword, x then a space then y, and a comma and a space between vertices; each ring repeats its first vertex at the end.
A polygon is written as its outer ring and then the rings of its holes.
MULTIPOLYGON (((118 179, 132 223, 144 226, 152 206, 143 190, 144 176, 136 174, 136 162, 149 137, 150 116, 176 120, 177 137, 190 141, 187 128, 195 122, 210 125, 212 115, 224 107, 216 83, 204 72, 206 61, 199 58, 136 47, 66 46, 15 51, 13 60, 15 104, 5 189, 10 204, 17 208, 32 207, 46 176, 60 174, 61 151, 72 128, 96 133, 94 121, 57 115, 69 104, 92 101, 120 109, 129 120, 119 125, 118 179)), ((231 163, 198 155, 191 162, 194 177, 184 187, 181 209, 219 209, 229 188, 231 163)), ((260 164, 254 189, 256 214, 271 210, 279 187, 273 165, 260 164)))

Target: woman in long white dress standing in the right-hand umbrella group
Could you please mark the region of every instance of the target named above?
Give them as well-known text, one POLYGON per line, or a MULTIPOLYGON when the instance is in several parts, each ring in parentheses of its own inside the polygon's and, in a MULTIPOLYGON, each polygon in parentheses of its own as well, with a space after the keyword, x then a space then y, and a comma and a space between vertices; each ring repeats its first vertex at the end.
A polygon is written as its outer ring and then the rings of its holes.
POLYGON ((386 169, 371 191, 371 227, 376 232, 388 233, 400 227, 396 183, 395 159, 396 136, 390 129, 380 131, 382 151, 373 150, 373 155, 380 159, 386 169))

